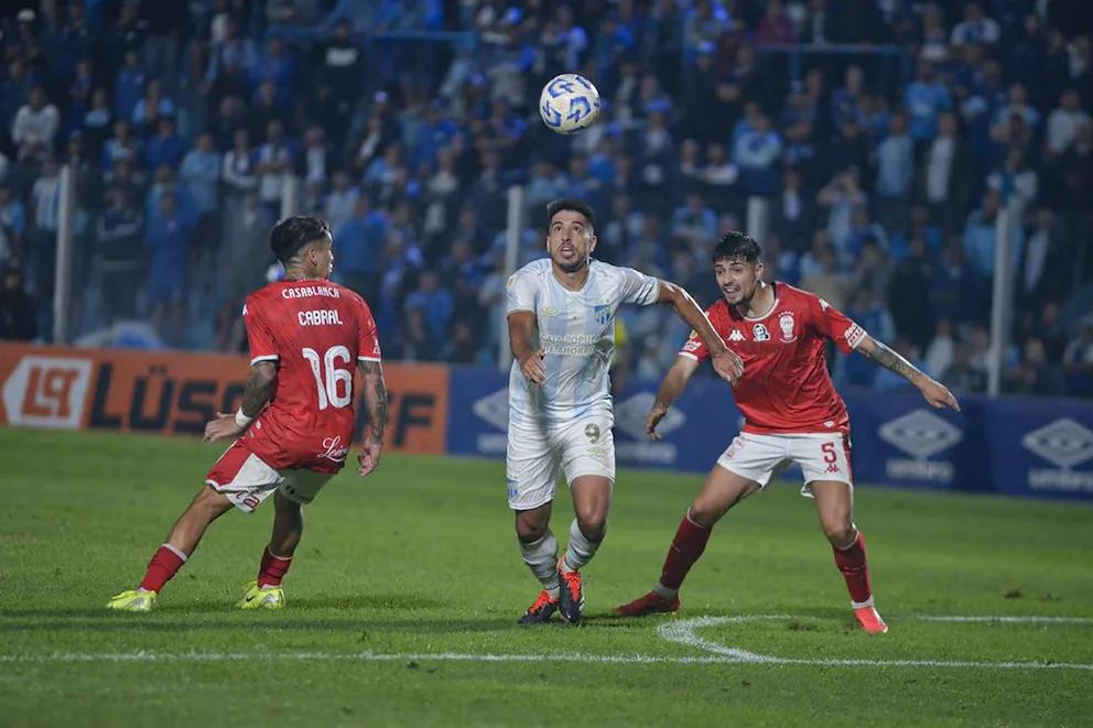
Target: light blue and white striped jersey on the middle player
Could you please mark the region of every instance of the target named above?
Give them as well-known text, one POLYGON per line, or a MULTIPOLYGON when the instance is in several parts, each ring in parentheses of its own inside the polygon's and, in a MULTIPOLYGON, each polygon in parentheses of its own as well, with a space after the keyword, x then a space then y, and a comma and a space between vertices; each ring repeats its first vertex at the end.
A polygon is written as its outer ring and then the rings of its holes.
POLYGON ((509 422, 558 427, 593 413, 612 413, 608 369, 615 352, 615 312, 625 303, 657 303, 660 282, 634 270, 592 261, 580 291, 554 278, 550 259, 532 261, 508 280, 506 315, 535 314, 546 358, 546 383, 528 381, 518 361, 509 373, 509 422))

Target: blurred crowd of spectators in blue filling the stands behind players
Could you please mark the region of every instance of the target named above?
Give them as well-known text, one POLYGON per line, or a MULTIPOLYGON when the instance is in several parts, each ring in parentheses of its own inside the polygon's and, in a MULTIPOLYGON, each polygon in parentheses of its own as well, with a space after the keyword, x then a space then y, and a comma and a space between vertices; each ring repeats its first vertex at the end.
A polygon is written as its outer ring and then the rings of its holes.
MULTIPOLYGON (((241 301, 277 274, 267 236, 289 209, 331 221, 386 358, 496 362, 520 185, 521 264, 543 254, 545 203, 575 196, 597 258, 704 305, 713 240, 761 213, 768 280, 957 393, 985 388, 1009 275, 1005 391, 1093 394, 1087 0, 3 7, 0 338, 52 339, 67 166, 69 341, 244 350, 241 301), (537 104, 573 70, 604 113, 564 138, 537 104)), ((661 376, 684 340, 656 308, 623 316, 616 383, 661 376)), ((903 385, 859 357, 833 368, 903 385)))

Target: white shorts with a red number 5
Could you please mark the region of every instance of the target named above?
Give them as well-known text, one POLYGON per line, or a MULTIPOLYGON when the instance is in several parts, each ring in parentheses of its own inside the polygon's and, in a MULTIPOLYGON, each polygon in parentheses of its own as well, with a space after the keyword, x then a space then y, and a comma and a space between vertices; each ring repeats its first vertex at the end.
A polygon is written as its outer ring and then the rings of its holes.
POLYGON ((790 465, 804 474, 802 495, 811 496, 809 483, 837 480, 854 485, 851 471, 851 438, 842 433, 808 435, 754 435, 740 433, 717 458, 717 465, 766 488, 770 478, 790 465))

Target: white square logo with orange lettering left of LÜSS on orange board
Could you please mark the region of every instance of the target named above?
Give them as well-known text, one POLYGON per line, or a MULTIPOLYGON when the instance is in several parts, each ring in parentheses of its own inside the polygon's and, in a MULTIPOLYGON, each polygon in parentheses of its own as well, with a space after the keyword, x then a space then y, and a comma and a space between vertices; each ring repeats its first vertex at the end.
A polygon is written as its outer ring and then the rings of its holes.
POLYGON ((89 359, 24 356, 3 383, 8 423, 77 430, 91 381, 89 359))

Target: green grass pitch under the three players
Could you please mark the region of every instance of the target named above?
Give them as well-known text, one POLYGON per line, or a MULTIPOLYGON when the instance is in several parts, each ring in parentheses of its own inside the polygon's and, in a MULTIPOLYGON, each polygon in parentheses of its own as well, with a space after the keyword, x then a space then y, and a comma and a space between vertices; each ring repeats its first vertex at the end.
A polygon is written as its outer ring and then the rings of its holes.
POLYGON ((625 621, 700 480, 626 471, 585 623, 528 629, 504 466, 388 455, 309 509, 289 609, 231 608, 263 508, 214 524, 155 612, 107 613, 217 454, 0 430, 0 725, 1093 725, 1086 506, 859 488, 891 628, 870 637, 811 502, 778 483, 717 526, 680 615, 625 621), (923 619, 955 616, 1082 619, 923 619))

